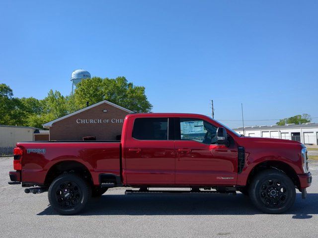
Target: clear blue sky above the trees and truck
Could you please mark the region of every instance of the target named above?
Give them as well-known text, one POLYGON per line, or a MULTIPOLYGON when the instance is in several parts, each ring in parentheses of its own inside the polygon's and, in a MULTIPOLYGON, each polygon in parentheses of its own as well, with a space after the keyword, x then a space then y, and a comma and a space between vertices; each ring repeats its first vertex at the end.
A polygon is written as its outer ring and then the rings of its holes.
MULTIPOLYGON (((71 73, 125 76, 154 112, 318 117, 318 1, 0 2, 0 83, 70 93, 71 73)), ((318 119, 314 119, 318 122, 318 119)), ((245 121, 245 125, 276 121, 245 121)))

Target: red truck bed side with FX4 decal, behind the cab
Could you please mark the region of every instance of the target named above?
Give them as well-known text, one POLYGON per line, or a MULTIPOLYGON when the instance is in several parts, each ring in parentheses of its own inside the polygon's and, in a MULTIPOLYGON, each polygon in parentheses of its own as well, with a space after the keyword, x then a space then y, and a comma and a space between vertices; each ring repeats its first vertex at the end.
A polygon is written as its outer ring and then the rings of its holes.
POLYGON ((25 184, 44 185, 49 170, 66 162, 85 166, 95 185, 101 174, 120 176, 120 141, 32 141, 17 146, 25 151, 21 171, 25 184))

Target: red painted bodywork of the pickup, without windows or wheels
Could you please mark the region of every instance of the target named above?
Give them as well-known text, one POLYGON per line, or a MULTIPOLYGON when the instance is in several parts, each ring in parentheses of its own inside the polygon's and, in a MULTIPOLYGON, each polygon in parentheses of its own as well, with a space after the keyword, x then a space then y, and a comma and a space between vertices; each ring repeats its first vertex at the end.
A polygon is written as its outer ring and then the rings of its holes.
POLYGON ((241 185, 244 186, 255 166, 266 161, 289 165, 300 178, 301 188, 308 187, 308 174, 302 169, 302 144, 291 140, 239 137, 229 147, 207 145, 191 140, 137 140, 132 137, 134 120, 141 117, 203 119, 216 127, 221 123, 197 114, 129 114, 121 142, 21 142, 23 149, 21 180, 44 184, 52 166, 63 161, 77 161, 99 184, 100 174, 121 176, 123 185, 241 185), (245 149, 245 164, 238 173, 238 147, 245 149), (27 153, 45 149, 45 153, 27 153))

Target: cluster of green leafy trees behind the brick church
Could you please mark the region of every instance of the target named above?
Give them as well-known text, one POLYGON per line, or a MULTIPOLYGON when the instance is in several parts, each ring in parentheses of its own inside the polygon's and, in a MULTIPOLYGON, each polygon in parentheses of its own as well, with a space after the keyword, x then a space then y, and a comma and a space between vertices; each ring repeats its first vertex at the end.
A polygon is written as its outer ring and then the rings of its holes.
POLYGON ((42 128, 42 124, 107 100, 134 112, 150 112, 152 105, 145 95, 145 87, 129 83, 125 77, 115 79, 93 77, 82 80, 74 94, 63 96, 49 91, 43 100, 14 98, 12 89, 0 84, 0 124, 42 128))

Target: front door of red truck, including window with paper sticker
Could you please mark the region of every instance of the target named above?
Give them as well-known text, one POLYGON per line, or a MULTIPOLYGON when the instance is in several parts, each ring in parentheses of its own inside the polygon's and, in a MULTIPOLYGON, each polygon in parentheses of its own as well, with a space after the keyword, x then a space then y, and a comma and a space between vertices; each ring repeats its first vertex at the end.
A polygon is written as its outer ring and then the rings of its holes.
POLYGON ((238 147, 217 145, 217 127, 203 119, 175 119, 176 184, 236 184, 238 147), (178 135, 179 133, 179 135, 178 135))

